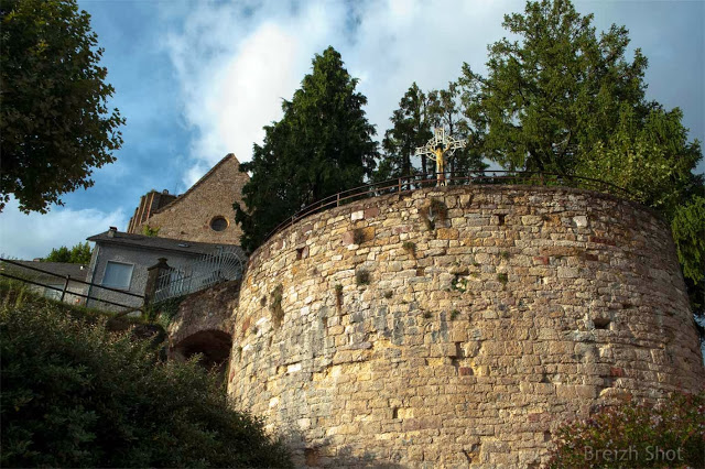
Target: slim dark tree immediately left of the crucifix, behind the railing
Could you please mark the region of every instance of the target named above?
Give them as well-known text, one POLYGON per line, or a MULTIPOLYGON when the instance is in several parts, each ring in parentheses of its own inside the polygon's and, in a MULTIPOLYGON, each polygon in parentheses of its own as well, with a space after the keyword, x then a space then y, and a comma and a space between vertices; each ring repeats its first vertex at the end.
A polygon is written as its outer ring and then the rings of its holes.
MULTIPOLYGON (((389 119, 392 128, 384 132, 383 155, 375 173, 375 181, 416 174, 412 159, 417 146, 424 145, 433 137, 427 118, 429 99, 413 83, 399 101, 399 109, 389 119)), ((421 160, 421 173, 429 171, 426 156, 421 160)))

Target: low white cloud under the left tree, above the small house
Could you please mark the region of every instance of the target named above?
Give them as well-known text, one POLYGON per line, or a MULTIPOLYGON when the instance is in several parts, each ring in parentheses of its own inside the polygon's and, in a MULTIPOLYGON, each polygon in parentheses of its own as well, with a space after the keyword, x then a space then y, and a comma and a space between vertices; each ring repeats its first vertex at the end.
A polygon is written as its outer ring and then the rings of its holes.
POLYGON ((61 246, 68 248, 109 227, 124 227, 128 218, 121 209, 72 210, 54 207, 48 214, 22 214, 12 199, 0 214, 0 254, 31 260, 48 254, 61 246))

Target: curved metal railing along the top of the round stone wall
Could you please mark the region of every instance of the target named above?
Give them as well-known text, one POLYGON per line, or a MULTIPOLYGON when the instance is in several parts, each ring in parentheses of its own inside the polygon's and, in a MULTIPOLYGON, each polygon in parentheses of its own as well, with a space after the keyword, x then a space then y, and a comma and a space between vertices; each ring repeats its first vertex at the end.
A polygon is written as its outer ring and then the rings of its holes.
MULTIPOLYGON (((404 194, 424 187, 434 187, 438 183, 437 173, 416 174, 413 176, 398 177, 380 183, 367 184, 365 186, 354 187, 343 190, 328 197, 316 200, 299 210, 296 214, 279 223, 271 230, 264 240, 276 234, 295 222, 306 218, 313 214, 327 210, 332 207, 339 207, 351 201, 378 197, 388 194, 404 194)), ((444 174, 444 176, 447 176, 444 174)), ((455 176, 451 174, 445 177, 446 186, 460 186, 474 184, 512 184, 512 185, 532 185, 532 186, 565 186, 582 189, 597 190, 601 193, 614 194, 619 197, 632 199, 633 196, 623 187, 616 186, 605 181, 594 179, 590 177, 571 176, 555 173, 540 172, 516 172, 516 171, 474 171, 464 175, 455 176)))

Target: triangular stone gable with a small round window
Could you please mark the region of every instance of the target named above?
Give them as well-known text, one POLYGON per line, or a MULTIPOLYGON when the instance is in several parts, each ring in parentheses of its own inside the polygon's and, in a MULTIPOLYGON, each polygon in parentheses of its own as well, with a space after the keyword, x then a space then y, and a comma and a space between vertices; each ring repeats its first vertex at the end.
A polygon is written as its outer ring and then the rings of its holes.
POLYGON ((242 203, 242 187, 249 181, 247 173, 241 173, 239 168, 237 157, 228 154, 184 194, 169 205, 152 210, 149 218, 133 217, 139 222, 130 220, 130 232, 141 233, 149 226, 159 228, 158 236, 163 238, 239 244, 242 231, 235 222, 232 204, 242 203), (220 217, 227 225, 217 231, 212 223, 220 217))

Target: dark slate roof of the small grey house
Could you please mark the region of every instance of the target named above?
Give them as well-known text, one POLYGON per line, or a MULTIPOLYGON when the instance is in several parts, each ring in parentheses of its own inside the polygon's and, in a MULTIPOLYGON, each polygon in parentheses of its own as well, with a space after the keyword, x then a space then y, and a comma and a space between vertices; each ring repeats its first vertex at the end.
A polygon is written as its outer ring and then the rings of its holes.
POLYGON ((144 234, 134 234, 123 231, 115 231, 113 236, 109 236, 110 230, 101 232, 88 238, 88 241, 120 244, 134 249, 143 249, 151 251, 171 251, 186 254, 210 254, 218 252, 219 248, 227 248, 231 252, 237 252, 242 259, 246 259, 245 252, 239 246, 234 244, 216 244, 210 242, 184 241, 183 239, 160 238, 144 234))

